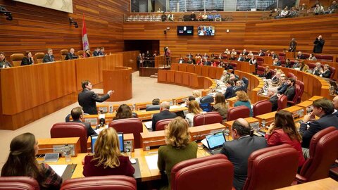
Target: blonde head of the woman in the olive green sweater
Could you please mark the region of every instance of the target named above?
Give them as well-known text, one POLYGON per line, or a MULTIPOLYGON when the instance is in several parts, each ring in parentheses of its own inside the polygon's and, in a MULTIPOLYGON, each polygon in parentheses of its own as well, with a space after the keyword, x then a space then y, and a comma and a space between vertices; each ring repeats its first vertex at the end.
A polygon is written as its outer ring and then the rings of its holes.
POLYGON ((165 128, 165 143, 175 148, 184 148, 189 144, 189 124, 187 120, 177 117, 165 128))

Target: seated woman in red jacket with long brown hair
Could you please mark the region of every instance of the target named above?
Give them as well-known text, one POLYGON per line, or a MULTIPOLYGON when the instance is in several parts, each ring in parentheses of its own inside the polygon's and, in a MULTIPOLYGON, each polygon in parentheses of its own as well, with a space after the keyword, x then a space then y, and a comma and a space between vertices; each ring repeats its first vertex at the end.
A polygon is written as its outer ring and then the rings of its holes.
POLYGON ((265 139, 269 146, 277 146, 280 144, 289 144, 299 153, 298 166, 301 167, 305 163, 303 151, 301 150, 301 135, 294 125, 292 113, 287 110, 279 110, 275 115, 273 122, 268 132, 265 134, 265 139))

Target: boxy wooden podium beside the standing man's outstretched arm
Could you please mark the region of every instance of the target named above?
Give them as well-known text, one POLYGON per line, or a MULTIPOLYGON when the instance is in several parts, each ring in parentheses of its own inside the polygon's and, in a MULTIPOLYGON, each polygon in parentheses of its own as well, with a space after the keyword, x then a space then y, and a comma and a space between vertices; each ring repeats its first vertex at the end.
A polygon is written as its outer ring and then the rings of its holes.
POLYGON ((108 101, 125 101, 132 99, 132 68, 115 67, 102 70, 104 93, 115 90, 108 101))

